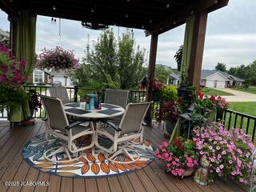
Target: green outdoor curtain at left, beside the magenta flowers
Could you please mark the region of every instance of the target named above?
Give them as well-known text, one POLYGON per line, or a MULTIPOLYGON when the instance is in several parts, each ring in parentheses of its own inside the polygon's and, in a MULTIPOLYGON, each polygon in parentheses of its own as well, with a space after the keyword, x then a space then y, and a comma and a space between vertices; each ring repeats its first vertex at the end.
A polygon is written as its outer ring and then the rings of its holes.
MULTIPOLYGON (((19 60, 26 59, 26 66, 23 70, 26 77, 31 77, 34 69, 36 21, 36 14, 30 14, 27 11, 23 11, 17 18, 15 54, 19 60)), ((30 117, 30 107, 28 102, 24 102, 10 112, 9 120, 21 122, 28 117, 30 117)))

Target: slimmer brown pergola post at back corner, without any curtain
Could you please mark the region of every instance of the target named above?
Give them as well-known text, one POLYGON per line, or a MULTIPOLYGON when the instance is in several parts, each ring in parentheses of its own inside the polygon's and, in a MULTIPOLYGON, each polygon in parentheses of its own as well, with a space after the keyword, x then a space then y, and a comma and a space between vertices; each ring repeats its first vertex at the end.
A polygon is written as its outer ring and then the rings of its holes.
MULTIPOLYGON (((151 34, 151 42, 150 42, 150 59, 149 66, 147 68, 147 87, 146 87, 146 101, 150 102, 153 100, 153 80, 154 80, 154 68, 155 62, 157 58, 157 50, 158 50, 158 34, 151 34)), ((152 106, 148 110, 146 114, 146 122, 151 125, 151 111, 152 106)))

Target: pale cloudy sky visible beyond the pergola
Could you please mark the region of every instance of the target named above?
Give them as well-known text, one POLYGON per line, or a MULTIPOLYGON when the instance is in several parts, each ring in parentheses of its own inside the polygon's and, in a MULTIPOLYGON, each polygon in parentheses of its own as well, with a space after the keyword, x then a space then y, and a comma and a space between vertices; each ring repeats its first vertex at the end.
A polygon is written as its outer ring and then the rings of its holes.
MULTIPOLYGON (((206 41, 202 69, 212 70, 218 62, 231 66, 248 65, 256 59, 256 1, 230 0, 229 5, 208 15, 206 41)), ((0 28, 9 30, 7 15, 0 11, 0 28)), ((116 36, 126 32, 126 28, 114 26, 116 36), (118 33, 119 29, 119 33, 118 33)), ((182 45, 185 25, 178 26, 158 37, 157 63, 177 68, 174 54, 182 45)), ((51 18, 38 16, 36 52, 42 48, 62 46, 74 50, 82 58, 88 35, 90 42, 96 41, 101 31, 82 28, 81 22, 61 19, 61 36, 59 36, 59 19, 56 24, 51 18)), ((134 30, 136 44, 150 50, 150 37, 145 37, 144 30, 134 30)), ((148 62, 148 59, 147 61, 148 62)))

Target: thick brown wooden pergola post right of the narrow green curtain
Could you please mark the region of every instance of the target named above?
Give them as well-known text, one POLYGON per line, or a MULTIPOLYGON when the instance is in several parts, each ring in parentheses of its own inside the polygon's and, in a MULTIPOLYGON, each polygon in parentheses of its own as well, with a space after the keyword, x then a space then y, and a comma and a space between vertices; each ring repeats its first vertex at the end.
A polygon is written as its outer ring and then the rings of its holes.
POLYGON ((206 38, 207 15, 208 14, 206 12, 201 12, 195 14, 194 17, 194 30, 190 54, 188 81, 197 88, 200 85, 201 78, 202 56, 206 38))

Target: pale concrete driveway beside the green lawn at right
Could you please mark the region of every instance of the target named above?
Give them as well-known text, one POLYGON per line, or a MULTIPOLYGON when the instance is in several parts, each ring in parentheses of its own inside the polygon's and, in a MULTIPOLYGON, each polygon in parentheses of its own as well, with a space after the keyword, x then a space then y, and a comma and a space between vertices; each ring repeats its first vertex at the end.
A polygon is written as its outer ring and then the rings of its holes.
POLYGON ((222 90, 227 93, 234 94, 231 96, 222 96, 222 98, 226 98, 228 102, 256 102, 256 94, 250 94, 240 90, 232 90, 230 88, 216 88, 216 90, 222 90))

